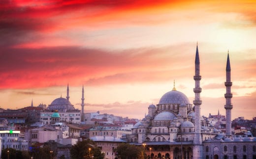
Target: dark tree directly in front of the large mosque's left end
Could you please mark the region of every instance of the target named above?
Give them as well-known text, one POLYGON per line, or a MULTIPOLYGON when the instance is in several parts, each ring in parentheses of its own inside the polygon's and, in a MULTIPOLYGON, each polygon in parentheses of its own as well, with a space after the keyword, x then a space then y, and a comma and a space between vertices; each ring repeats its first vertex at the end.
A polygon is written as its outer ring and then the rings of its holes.
POLYGON ((115 149, 115 152, 118 159, 147 159, 145 149, 141 146, 123 143, 115 149))

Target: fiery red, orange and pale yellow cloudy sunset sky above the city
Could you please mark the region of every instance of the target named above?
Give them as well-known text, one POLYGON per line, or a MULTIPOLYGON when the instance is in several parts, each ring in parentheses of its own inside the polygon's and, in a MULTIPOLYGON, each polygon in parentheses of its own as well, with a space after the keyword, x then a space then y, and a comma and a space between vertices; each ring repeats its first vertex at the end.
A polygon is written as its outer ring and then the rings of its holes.
POLYGON ((201 115, 225 115, 229 50, 232 119, 256 116, 255 0, 1 0, 0 107, 66 97, 85 112, 142 119, 173 88, 201 115))

